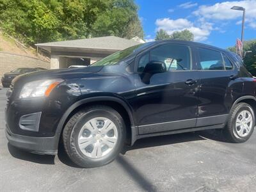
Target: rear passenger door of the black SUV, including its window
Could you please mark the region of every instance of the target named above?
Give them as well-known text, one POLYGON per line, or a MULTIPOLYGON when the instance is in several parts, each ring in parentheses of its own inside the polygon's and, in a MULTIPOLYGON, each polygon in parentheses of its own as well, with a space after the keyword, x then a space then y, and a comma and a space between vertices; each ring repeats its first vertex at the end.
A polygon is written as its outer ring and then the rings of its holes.
MULTIPOLYGON (((200 103, 196 127, 224 124, 230 108, 227 106, 230 104, 228 100, 232 100, 232 91, 234 91, 230 81, 236 79, 236 67, 221 51, 198 47, 197 52, 200 103)), ((234 84, 232 86, 236 87, 234 84)))

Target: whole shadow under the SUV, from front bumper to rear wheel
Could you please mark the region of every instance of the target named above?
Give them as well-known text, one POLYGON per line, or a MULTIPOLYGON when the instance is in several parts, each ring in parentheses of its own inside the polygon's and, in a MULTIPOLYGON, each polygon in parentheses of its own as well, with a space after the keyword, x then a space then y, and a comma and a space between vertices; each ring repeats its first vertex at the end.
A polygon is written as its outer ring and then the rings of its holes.
MULTIPOLYGON (((187 132, 180 134, 171 134, 166 136, 143 138, 141 140, 136 141, 133 146, 125 147, 121 153, 124 155, 127 151, 136 150, 138 148, 173 145, 175 143, 186 143, 189 141, 198 141, 206 139, 226 142, 223 137, 223 134, 221 134, 221 131, 218 130, 187 132)), ((8 150, 10 154, 17 159, 22 159, 24 161, 31 161, 40 164, 54 164, 55 156, 32 154, 26 152, 25 150, 20 150, 19 148, 13 147, 12 145, 10 145, 10 143, 8 143, 8 150)), ((72 161, 69 159, 69 157, 65 153, 65 149, 63 148, 62 144, 60 144, 58 148, 58 159, 60 159, 61 163, 63 164, 72 166, 74 168, 79 168, 79 166, 72 163, 72 161)), ((120 159, 120 157, 118 157, 118 159, 120 159)), ((125 161, 124 158, 121 158, 121 160, 125 161)))

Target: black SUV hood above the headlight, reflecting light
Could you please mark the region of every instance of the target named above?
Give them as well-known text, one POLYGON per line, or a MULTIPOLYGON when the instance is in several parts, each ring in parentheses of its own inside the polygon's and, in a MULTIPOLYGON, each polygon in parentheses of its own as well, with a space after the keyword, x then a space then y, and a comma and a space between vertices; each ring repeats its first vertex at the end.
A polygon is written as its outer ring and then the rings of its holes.
POLYGON ((49 78, 61 78, 64 80, 68 79, 76 79, 81 76, 85 76, 86 74, 93 74, 95 72, 99 72, 102 69, 102 66, 96 67, 83 67, 83 68, 65 68, 65 69, 53 69, 53 70, 44 70, 39 72, 31 72, 27 74, 22 74, 20 76, 15 77, 12 83, 15 87, 21 87, 25 83, 41 80, 41 79, 49 79, 49 78))

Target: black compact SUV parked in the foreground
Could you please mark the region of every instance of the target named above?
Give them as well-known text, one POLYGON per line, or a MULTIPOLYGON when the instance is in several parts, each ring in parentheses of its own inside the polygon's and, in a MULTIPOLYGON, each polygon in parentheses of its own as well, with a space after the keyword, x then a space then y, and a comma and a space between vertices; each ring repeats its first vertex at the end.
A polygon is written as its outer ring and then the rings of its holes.
POLYGON ((242 143, 255 126, 255 79, 217 47, 178 40, 116 52, 90 67, 18 76, 7 92, 6 137, 38 154, 59 143, 81 167, 107 164, 124 144, 223 129, 242 143))

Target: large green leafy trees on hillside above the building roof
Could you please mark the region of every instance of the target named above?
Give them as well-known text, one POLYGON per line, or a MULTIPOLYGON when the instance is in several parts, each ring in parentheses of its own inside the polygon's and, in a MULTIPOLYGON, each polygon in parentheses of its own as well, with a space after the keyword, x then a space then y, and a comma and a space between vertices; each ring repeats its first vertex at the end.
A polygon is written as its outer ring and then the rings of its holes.
POLYGON ((143 38, 137 12, 133 0, 0 0, 0 27, 30 45, 106 35, 143 38))

